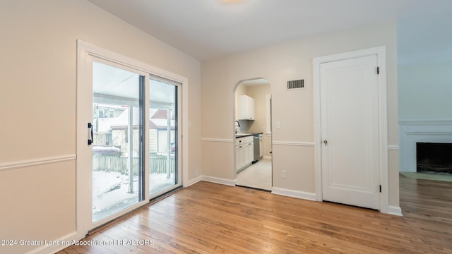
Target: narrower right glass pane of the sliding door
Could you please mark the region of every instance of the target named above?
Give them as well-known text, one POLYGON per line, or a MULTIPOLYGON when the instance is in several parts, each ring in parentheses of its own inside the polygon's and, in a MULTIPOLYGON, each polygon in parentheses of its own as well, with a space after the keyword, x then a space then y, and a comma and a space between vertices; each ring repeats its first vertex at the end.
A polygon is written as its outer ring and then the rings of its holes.
POLYGON ((150 79, 149 194, 169 191, 178 184, 177 85, 150 79))

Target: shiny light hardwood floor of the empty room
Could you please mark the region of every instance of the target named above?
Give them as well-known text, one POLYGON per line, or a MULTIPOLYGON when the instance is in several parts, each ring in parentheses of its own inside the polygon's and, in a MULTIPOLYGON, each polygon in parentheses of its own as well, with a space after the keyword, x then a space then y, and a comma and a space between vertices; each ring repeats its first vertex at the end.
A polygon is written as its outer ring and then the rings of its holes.
POLYGON ((404 217, 200 182, 60 253, 452 253, 452 183, 400 176, 404 217))

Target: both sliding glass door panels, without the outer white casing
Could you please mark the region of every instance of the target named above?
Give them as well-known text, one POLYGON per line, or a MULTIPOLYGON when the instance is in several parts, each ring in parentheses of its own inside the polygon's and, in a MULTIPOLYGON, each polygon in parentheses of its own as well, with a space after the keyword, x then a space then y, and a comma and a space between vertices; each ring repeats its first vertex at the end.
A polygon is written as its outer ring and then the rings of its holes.
POLYGON ((92 58, 90 147, 93 229, 182 186, 181 84, 92 58))

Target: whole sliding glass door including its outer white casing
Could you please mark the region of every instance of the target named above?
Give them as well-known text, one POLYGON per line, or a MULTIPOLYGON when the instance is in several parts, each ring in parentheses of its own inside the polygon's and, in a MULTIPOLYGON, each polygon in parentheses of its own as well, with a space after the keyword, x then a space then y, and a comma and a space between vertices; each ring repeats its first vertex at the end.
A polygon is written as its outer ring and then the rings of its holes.
MULTIPOLYGON (((188 80, 77 42, 77 237, 182 186, 188 80), (177 80, 177 81, 176 81, 177 80), (183 128, 182 128, 183 127, 183 128), (184 148, 182 148, 184 147, 184 148)), ((186 176, 184 176, 186 178, 186 176)))

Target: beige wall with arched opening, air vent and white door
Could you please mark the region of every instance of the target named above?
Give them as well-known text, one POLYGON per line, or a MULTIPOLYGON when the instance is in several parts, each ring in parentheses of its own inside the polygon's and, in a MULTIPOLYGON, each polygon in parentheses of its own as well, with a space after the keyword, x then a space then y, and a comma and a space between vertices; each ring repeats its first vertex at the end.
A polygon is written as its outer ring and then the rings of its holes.
MULTIPOLYGON (((315 193, 314 147, 281 145, 287 142, 314 143, 314 90, 312 61, 357 49, 386 46, 388 80, 388 144, 398 144, 397 116, 397 35, 396 21, 388 21, 340 32, 293 40, 271 47, 204 61, 202 68, 202 135, 205 138, 231 139, 234 120, 234 86, 239 80, 266 78, 271 84, 273 126, 273 186, 302 193, 315 193), (287 91, 287 80, 304 79, 303 90, 287 91), (287 179, 281 171, 287 171, 287 179)), ((234 179, 232 164, 215 164, 211 158, 230 156, 232 143, 203 142, 203 174, 234 179), (214 166, 215 165, 215 166, 214 166), (225 173, 227 172, 227 173, 225 173)), ((397 150, 389 157, 390 205, 398 206, 397 150)))

